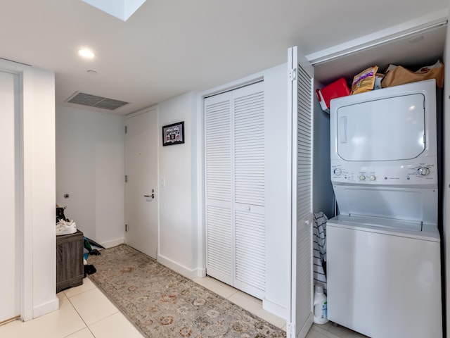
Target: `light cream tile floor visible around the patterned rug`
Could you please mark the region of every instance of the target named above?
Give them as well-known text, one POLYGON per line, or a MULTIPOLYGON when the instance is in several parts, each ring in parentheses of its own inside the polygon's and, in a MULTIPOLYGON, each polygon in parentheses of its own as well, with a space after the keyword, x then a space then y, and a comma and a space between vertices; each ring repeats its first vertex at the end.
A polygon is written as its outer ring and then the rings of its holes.
MULTIPOLYGON (((285 330, 285 320, 264 311, 262 301, 240 292, 227 284, 210 277, 195 278, 195 282, 212 292, 238 304, 245 310, 285 330)), ((132 325, 116 306, 96 287, 84 278, 83 284, 59 292, 60 306, 34 320, 15 320, 0 326, 0 337, 8 338, 142 338, 142 334, 132 325)), ((331 323, 313 325, 307 338, 363 338, 361 334, 331 323)))

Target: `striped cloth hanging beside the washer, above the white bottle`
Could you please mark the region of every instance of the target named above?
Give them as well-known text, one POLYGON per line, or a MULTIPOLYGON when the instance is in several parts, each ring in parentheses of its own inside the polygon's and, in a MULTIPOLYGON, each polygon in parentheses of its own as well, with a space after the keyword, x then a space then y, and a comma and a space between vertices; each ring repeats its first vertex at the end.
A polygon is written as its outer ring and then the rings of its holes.
POLYGON ((313 228, 313 265, 314 265, 314 284, 321 284, 323 291, 326 292, 326 222, 328 218, 319 211, 314 213, 313 228))

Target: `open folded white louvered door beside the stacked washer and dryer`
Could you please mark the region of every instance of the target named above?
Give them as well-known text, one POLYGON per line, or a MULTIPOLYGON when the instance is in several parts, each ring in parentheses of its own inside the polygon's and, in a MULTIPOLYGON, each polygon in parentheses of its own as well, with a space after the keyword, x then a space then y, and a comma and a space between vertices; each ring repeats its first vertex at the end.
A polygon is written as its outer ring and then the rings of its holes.
POLYGON ((292 231, 288 337, 304 338, 313 322, 312 298, 312 130, 314 69, 288 50, 289 107, 292 114, 292 231))

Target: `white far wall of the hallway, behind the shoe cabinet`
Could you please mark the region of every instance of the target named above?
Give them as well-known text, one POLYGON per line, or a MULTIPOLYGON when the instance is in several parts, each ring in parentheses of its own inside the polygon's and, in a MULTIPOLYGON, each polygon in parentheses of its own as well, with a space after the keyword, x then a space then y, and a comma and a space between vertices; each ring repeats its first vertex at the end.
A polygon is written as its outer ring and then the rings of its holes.
POLYGON ((56 203, 106 247, 124 242, 124 125, 121 115, 56 107, 56 203))

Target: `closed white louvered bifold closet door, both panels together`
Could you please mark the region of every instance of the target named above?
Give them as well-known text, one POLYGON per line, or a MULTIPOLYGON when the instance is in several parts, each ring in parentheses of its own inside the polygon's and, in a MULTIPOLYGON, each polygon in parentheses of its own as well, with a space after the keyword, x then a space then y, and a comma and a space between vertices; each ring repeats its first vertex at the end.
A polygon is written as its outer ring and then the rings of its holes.
POLYGON ((264 297, 264 83, 205 98, 206 273, 264 297))

